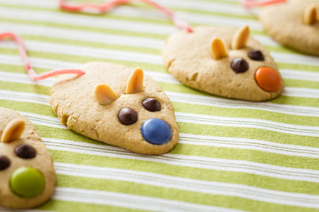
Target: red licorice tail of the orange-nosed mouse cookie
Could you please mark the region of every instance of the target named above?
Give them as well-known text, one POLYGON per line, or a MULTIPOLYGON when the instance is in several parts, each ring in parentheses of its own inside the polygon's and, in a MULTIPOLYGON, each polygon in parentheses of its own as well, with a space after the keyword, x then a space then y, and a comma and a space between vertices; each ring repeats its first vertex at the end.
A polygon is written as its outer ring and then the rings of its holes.
POLYGON ((105 4, 67 4, 65 0, 58 0, 58 5, 61 10, 65 10, 65 11, 79 11, 79 12, 96 11, 98 13, 103 13, 103 12, 109 11, 115 6, 118 6, 121 4, 129 4, 135 1, 152 5, 159 11, 164 12, 167 15, 167 17, 174 22, 176 27, 186 30, 189 33, 193 31, 190 24, 181 19, 177 19, 173 11, 170 11, 166 7, 163 7, 151 0, 113 0, 105 4))

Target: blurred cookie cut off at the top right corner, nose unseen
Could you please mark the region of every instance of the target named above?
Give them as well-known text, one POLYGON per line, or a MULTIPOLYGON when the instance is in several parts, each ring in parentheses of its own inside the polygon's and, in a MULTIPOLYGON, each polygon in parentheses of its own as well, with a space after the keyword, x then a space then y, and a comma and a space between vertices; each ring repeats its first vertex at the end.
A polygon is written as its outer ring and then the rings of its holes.
POLYGON ((319 56, 319 0, 289 0, 266 6, 261 23, 276 42, 319 56))

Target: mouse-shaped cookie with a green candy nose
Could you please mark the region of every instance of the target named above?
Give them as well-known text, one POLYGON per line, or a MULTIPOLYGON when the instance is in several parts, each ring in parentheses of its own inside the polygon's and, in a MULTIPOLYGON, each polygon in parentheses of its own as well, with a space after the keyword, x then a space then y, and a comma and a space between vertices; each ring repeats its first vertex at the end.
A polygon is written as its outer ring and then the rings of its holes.
POLYGON ((19 113, 0 108, 0 206, 33 208, 54 192, 55 170, 35 126, 19 113))

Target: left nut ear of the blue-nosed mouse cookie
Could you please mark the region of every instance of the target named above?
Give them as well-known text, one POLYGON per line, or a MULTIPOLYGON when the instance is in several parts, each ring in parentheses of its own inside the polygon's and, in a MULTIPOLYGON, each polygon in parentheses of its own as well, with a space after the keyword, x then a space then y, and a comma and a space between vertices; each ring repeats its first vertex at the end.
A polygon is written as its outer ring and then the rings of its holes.
POLYGON ((105 84, 97 84, 94 88, 94 96, 97 102, 102 105, 107 105, 119 98, 113 89, 105 84))

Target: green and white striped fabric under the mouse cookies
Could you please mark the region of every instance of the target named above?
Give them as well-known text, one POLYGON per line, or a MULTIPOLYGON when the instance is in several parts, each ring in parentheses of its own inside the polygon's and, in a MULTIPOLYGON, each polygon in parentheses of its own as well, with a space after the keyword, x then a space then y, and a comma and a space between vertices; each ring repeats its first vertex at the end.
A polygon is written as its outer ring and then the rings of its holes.
POLYGON ((235 0, 156 2, 193 27, 248 24, 283 74, 283 95, 245 102, 181 85, 160 56, 178 30, 151 7, 93 15, 59 11, 57 0, 0 0, 0 31, 23 37, 36 72, 141 67, 173 102, 181 133, 171 152, 149 156, 67 130, 49 103, 54 79, 32 82, 15 43, 0 42, 0 106, 35 124, 57 171, 51 201, 32 211, 319 211, 319 57, 273 42, 235 0))

